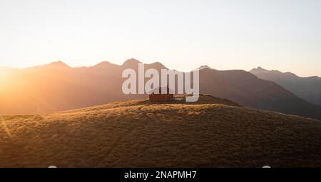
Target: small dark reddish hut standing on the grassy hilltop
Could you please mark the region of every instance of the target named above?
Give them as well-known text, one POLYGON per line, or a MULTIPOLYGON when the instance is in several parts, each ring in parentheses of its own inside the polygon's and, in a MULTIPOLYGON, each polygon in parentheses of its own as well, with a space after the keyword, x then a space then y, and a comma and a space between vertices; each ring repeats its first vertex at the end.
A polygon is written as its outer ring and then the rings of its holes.
POLYGON ((169 102, 173 100, 174 94, 173 90, 170 90, 169 87, 158 87, 149 94, 149 101, 151 102, 169 102), (162 93, 162 90, 166 90, 165 93, 162 93), (156 92, 158 91, 158 92, 156 92))

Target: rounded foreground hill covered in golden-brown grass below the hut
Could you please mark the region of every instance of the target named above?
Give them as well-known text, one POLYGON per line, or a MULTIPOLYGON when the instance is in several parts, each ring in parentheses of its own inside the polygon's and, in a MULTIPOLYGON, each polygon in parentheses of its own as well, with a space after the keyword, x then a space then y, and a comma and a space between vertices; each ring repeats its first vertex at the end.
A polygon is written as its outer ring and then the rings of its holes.
POLYGON ((0 117, 0 167, 51 165, 320 167, 321 122, 210 96, 0 117))

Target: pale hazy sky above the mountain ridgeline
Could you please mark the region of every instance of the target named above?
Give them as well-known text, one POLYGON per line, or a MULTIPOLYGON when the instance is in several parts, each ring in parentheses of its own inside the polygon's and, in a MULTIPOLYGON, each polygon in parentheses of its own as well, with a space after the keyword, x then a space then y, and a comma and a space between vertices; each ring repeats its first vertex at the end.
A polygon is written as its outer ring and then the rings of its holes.
POLYGON ((128 58, 321 76, 321 1, 0 0, 0 66, 128 58))

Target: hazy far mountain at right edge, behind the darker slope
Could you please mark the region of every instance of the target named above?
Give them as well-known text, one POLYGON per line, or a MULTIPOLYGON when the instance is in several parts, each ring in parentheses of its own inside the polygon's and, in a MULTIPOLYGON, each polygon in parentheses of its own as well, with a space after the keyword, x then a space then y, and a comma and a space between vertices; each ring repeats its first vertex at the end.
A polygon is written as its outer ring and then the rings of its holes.
POLYGON ((307 102, 321 105, 321 77, 299 77, 293 73, 255 68, 250 70, 257 77, 285 87, 307 102))

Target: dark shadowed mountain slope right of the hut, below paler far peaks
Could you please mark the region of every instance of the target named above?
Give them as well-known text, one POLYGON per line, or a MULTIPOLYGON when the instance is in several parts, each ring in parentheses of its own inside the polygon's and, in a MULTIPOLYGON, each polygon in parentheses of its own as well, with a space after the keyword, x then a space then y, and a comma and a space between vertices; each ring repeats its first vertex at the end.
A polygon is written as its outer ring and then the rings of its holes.
POLYGON ((202 93, 227 98, 247 107, 321 120, 321 106, 311 104, 275 82, 244 70, 200 70, 202 93))

